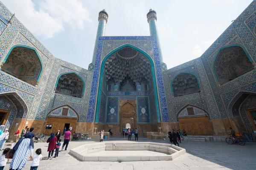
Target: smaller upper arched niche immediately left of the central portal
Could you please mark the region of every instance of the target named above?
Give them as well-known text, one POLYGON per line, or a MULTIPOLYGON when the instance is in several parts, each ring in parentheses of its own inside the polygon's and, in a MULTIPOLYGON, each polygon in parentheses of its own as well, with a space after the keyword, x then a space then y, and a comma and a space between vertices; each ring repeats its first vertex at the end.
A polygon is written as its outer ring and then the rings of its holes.
POLYGON ((84 80, 75 72, 64 73, 58 77, 55 93, 82 98, 84 85, 84 80))

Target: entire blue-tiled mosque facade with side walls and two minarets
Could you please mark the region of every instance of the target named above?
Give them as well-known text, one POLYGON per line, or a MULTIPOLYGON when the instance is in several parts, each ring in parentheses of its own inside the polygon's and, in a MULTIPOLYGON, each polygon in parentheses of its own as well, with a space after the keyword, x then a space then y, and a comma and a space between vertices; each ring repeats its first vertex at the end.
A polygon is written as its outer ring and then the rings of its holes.
MULTIPOLYGON (((72 128, 96 134, 125 127, 166 134, 227 136, 256 132, 256 1, 202 54, 167 69, 148 12, 150 36, 108 37, 99 12, 88 69, 55 58, 0 3, 0 122, 10 134, 72 128)), ((111 17, 111 16, 110 16, 111 17)))

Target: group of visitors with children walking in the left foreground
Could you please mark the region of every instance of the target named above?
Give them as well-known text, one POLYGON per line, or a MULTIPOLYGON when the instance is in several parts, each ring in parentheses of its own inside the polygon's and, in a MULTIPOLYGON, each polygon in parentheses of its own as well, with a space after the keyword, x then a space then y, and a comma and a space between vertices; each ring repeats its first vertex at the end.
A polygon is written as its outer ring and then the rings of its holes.
MULTIPOLYGON (((34 150, 34 138, 35 134, 33 133, 34 128, 31 127, 29 129, 28 126, 26 126, 21 134, 20 130, 16 130, 16 133, 12 136, 12 145, 11 148, 6 148, 3 150, 2 155, 0 155, 0 170, 3 170, 3 168, 6 166, 6 162, 12 159, 10 164, 10 170, 22 170, 23 167, 26 164, 27 157, 30 153, 30 160, 32 161, 30 170, 37 170, 39 166, 39 161, 42 160, 42 150, 41 148, 37 149, 35 151, 35 155, 33 155, 34 150), (6 157, 7 156, 7 157, 6 157)), ((4 132, 0 130, 0 148, 3 149, 3 145, 5 144, 6 140, 9 138, 9 132, 6 128, 4 132)), ((47 139, 48 144, 48 159, 52 159, 54 150, 55 150, 55 156, 54 158, 58 157, 59 149, 61 147, 61 132, 58 130, 56 134, 51 133, 51 136, 47 139)), ((71 132, 70 129, 65 131, 64 133, 64 143, 62 145, 62 149, 67 150, 67 146, 71 139, 71 132)))

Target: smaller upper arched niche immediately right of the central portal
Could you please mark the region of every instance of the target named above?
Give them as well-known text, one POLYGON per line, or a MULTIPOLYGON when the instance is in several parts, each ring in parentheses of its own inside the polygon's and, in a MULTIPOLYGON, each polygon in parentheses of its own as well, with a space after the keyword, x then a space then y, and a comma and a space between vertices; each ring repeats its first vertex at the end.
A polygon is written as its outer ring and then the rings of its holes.
POLYGON ((194 94, 201 91, 198 77, 195 74, 180 72, 171 82, 174 97, 194 94))

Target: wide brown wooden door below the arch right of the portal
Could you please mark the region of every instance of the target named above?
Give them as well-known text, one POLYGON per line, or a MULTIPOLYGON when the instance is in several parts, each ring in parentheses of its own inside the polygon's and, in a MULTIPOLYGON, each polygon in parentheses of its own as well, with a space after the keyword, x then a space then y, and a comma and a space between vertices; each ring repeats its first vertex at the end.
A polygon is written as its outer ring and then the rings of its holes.
POLYGON ((212 135, 208 116, 179 118, 180 129, 187 135, 212 135))

